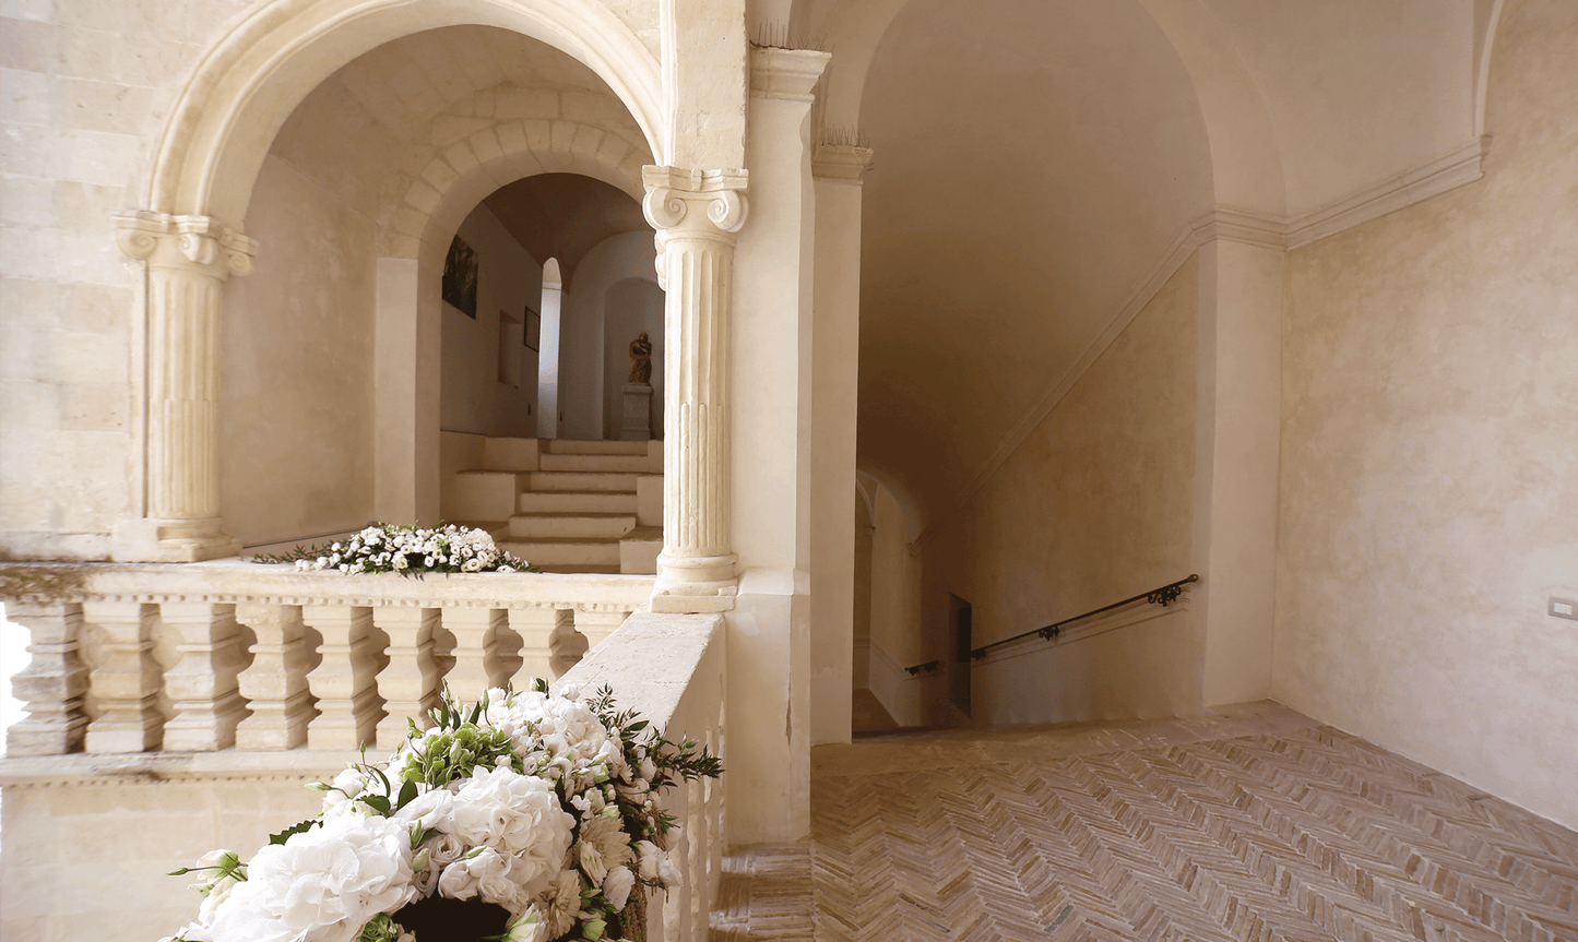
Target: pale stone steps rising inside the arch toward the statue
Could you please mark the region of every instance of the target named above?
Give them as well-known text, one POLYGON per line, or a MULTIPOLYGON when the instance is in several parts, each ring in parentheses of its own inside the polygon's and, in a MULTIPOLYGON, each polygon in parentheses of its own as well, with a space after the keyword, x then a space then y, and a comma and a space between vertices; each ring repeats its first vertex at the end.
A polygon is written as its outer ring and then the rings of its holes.
POLYGON ((466 459, 480 467, 451 477, 445 519, 488 529, 500 549, 551 573, 656 571, 661 442, 483 439, 466 459))

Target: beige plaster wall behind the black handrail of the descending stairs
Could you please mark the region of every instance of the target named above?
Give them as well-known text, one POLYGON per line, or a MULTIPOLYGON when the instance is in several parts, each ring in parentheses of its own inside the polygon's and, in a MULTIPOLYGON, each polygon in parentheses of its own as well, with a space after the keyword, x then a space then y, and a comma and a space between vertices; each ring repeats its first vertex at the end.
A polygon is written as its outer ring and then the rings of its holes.
MULTIPOLYGON (((955 660, 948 593, 970 603, 980 647, 1188 574, 1198 279, 1195 256, 926 544, 915 660, 955 660)), ((876 628, 873 619, 873 641, 876 628)), ((1184 614, 1070 644, 1023 642, 974 669, 972 718, 1196 713, 1201 653, 1184 614)))

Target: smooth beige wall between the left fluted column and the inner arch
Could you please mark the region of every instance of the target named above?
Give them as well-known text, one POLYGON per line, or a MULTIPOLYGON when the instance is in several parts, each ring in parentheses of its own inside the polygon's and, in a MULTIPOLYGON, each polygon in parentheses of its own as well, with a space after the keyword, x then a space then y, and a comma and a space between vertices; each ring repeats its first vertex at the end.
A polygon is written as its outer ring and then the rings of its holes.
POLYGON ((246 221, 260 249, 221 308, 221 513, 245 546, 360 527, 374 516, 374 226, 275 155, 246 221))

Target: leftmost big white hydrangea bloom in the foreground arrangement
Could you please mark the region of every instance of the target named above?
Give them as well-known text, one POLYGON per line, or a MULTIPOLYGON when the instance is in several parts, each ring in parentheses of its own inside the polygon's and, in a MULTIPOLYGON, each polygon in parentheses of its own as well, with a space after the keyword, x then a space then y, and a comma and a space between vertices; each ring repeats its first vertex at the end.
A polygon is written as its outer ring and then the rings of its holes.
POLYGON ((213 942, 352 942, 417 898, 402 821, 339 816, 270 844, 216 910, 213 942))

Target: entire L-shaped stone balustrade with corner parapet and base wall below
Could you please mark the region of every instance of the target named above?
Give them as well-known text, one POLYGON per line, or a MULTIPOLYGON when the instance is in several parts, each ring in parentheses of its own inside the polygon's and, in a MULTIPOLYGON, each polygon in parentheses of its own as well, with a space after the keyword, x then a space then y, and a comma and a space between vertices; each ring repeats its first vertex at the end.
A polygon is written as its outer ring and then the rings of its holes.
MULTIPOLYGON (((79 939, 112 920, 117 937, 169 934, 196 903, 164 871, 213 846, 260 846, 312 814, 319 798, 301 786, 331 778, 361 742, 393 746, 440 682, 472 699, 573 663, 559 688, 611 685, 622 708, 727 768, 723 617, 626 617, 652 578, 417 581, 235 562, 82 571, 74 590, 55 581, 57 598, 6 601, 33 631, 33 663, 16 678, 30 716, 0 759, 8 936, 79 939), (137 863, 103 880, 106 860, 137 863), (35 873, 95 893, 22 893, 35 873)), ((650 898, 652 942, 707 937, 724 781, 663 797, 683 884, 650 898)))

